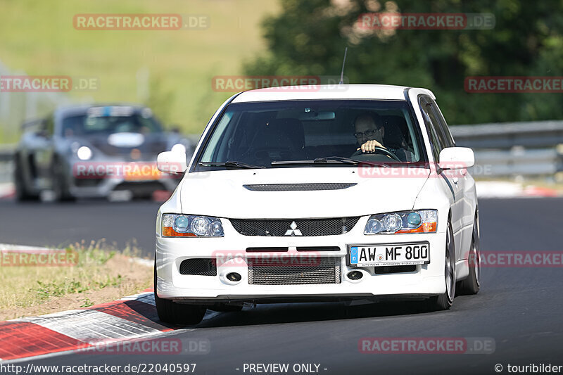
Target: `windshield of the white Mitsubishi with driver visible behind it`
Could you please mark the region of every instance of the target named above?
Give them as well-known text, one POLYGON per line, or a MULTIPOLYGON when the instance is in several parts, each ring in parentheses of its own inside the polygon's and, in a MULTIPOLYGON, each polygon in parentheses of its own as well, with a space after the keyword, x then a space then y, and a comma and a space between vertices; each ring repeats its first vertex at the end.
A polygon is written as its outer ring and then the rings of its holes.
POLYGON ((215 122, 196 170, 355 160, 410 165, 424 159, 419 134, 406 101, 232 103, 215 122), (366 142, 381 147, 362 152, 366 142))

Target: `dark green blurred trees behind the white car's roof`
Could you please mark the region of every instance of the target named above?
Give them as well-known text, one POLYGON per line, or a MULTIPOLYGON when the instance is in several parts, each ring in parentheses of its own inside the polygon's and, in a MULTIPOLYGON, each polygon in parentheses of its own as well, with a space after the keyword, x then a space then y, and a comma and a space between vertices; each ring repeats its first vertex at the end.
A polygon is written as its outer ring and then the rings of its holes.
POLYGON ((434 91, 450 124, 563 118, 562 94, 469 94, 464 78, 563 75, 563 1, 281 0, 248 75, 339 75, 434 91), (367 12, 492 13, 491 30, 365 30, 367 12))

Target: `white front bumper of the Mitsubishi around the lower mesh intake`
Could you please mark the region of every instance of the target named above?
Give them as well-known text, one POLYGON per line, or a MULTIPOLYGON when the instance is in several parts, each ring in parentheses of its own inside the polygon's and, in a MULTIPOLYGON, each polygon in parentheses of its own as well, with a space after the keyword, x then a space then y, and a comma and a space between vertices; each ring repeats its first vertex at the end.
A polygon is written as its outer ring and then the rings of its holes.
MULTIPOLYGON (((388 296, 429 296, 445 291, 445 232, 431 234, 379 234, 365 236, 367 217, 362 217, 354 229, 337 236, 243 236, 228 220, 222 220, 225 236, 220 238, 156 237, 156 291, 160 298, 184 302, 208 303, 220 300, 293 300, 304 298, 380 298, 388 296), (350 244, 408 243, 428 241, 430 262, 417 265, 415 271, 376 273, 374 267, 355 267, 347 263, 350 244), (336 258, 340 282, 336 284, 256 285, 249 284, 248 257, 255 254, 246 248, 287 247, 284 253, 272 256, 303 255, 296 247, 334 247, 339 250, 312 252, 315 257, 336 258), (232 259, 224 262, 224 255, 232 259), (222 258, 217 262, 216 276, 180 274, 182 261, 191 258, 222 258), (362 278, 351 280, 348 272, 359 270, 362 278), (230 272, 241 275, 238 282, 229 281, 230 272)), ((308 254, 312 254, 309 252, 308 254)), ((264 254, 264 253, 260 253, 264 254)), ((284 267, 283 265, 279 267, 284 267)))

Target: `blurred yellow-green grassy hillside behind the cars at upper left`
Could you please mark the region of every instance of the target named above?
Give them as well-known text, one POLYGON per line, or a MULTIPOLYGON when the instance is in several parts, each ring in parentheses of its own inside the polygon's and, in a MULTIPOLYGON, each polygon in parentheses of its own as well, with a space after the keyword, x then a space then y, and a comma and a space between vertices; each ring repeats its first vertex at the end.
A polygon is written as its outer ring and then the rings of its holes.
MULTIPOLYGON (((265 51, 260 22, 274 0, 0 0, 0 61, 28 75, 97 77, 96 91, 71 91, 76 101, 142 102, 137 72, 148 70, 153 107, 165 125, 186 133, 205 127, 230 96, 213 91, 215 75, 238 75, 243 61, 265 51), (77 13, 208 15, 205 30, 75 30, 77 13)), ((0 124, 1 125, 1 124, 0 124)), ((4 124, 0 143, 18 124, 4 124)))

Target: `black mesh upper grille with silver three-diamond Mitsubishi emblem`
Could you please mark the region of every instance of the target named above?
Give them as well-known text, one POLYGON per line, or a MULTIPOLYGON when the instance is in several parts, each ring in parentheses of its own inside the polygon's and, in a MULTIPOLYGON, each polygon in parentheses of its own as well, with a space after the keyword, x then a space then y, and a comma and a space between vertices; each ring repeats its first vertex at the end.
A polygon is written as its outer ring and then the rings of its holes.
POLYGON ((253 220, 231 219, 234 229, 243 236, 334 236, 352 230, 360 217, 329 219, 253 220), (295 222, 295 225, 291 225, 295 222))

